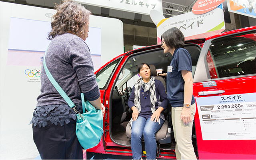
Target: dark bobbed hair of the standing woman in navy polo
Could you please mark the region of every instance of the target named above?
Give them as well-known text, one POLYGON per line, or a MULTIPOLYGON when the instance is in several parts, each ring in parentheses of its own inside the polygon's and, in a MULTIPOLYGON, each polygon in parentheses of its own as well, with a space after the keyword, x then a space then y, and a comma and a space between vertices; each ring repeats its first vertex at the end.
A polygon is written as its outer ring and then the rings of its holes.
POLYGON ((176 27, 172 27, 172 28, 166 30, 162 34, 161 40, 163 38, 164 38, 164 43, 166 44, 166 46, 168 46, 170 48, 179 48, 179 47, 184 48, 184 44, 185 44, 184 35, 176 27))

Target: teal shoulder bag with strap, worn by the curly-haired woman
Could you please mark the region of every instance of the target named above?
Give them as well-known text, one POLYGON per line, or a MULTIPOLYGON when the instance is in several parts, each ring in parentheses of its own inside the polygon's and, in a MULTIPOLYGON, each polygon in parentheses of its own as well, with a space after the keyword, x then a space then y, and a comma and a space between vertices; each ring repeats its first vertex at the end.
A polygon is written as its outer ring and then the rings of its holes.
MULTIPOLYGON (((47 52, 47 50, 46 50, 47 52)), ((96 109, 88 100, 84 100, 84 93, 81 93, 82 108, 83 113, 81 114, 76 110, 75 104, 70 100, 68 95, 62 90, 60 85, 53 78, 52 74, 49 72, 44 54, 44 70, 49 80, 52 82, 53 86, 68 103, 70 108, 76 112, 76 136, 81 146, 84 149, 89 149, 97 146, 103 135, 103 115, 102 110, 96 109), (87 112, 86 112, 87 110, 87 112)))

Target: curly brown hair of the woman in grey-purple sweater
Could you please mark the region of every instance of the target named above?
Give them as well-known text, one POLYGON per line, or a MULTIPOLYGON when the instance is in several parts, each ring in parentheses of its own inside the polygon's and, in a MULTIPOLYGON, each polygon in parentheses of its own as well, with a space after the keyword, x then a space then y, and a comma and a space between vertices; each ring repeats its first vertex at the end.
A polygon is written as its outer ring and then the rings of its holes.
POLYGON ((50 40, 57 34, 67 32, 78 37, 85 34, 84 26, 89 23, 89 16, 92 15, 92 12, 74 0, 63 0, 61 4, 55 6, 55 9, 56 14, 52 16, 52 30, 48 34, 50 40))

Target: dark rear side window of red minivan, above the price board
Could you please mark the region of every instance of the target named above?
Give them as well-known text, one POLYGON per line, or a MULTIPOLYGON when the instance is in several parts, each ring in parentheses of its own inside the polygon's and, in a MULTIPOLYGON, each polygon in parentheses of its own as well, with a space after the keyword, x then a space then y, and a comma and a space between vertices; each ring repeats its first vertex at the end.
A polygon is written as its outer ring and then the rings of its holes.
POLYGON ((256 73, 256 33, 213 40, 207 55, 211 78, 256 73))

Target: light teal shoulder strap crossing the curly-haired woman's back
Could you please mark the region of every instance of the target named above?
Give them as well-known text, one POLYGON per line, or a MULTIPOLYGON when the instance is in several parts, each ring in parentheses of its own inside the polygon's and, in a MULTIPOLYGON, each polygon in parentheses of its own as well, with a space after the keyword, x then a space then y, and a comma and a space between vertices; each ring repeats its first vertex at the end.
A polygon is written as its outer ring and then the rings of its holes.
MULTIPOLYGON (((48 48, 47 48, 48 50, 48 48)), ((62 90, 62 88, 60 87, 60 85, 56 82, 56 80, 53 78, 52 74, 49 72, 47 66, 46 66, 46 62, 45 62, 45 57, 46 57, 46 52, 44 54, 44 70, 46 72, 47 77, 49 78, 49 80, 52 82, 52 85, 56 88, 56 90, 60 93, 60 95, 64 98, 64 100, 68 103, 68 106, 70 106, 70 108, 75 107, 75 104, 72 102, 72 100, 70 100, 70 98, 68 97, 68 95, 64 92, 64 90, 62 90)))

